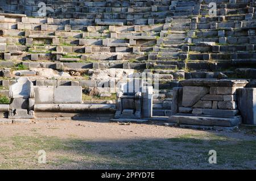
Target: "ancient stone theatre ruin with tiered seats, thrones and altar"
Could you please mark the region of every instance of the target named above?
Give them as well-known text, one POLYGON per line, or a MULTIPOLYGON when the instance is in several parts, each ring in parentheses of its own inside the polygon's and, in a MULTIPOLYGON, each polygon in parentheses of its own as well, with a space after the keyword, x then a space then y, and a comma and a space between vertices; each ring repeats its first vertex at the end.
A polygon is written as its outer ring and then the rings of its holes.
POLYGON ((255 0, 1 0, 2 123, 256 124, 255 0))

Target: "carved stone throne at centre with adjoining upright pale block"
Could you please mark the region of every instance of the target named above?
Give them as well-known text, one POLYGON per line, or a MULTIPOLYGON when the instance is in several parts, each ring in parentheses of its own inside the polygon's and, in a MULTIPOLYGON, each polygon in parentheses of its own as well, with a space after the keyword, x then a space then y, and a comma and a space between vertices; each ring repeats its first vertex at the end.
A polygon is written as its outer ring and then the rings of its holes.
POLYGON ((152 87, 129 90, 127 84, 117 92, 115 119, 141 119, 152 116, 152 87))

